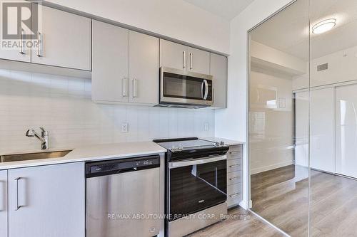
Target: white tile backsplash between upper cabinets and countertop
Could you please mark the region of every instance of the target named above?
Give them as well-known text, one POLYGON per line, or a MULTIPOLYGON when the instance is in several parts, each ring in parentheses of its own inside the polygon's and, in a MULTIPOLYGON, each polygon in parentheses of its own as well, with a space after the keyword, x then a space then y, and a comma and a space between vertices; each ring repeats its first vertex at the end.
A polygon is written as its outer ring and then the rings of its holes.
POLYGON ((39 149, 27 129, 45 127, 51 148, 145 141, 164 137, 213 137, 214 111, 91 101, 91 80, 0 70, 0 154, 39 149), (129 132, 121 132, 121 123, 129 132), (209 130, 204 130, 204 123, 209 130))

